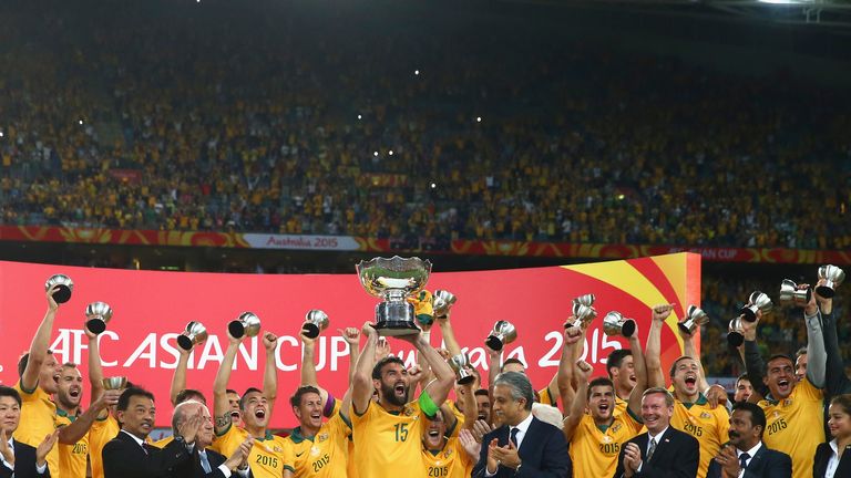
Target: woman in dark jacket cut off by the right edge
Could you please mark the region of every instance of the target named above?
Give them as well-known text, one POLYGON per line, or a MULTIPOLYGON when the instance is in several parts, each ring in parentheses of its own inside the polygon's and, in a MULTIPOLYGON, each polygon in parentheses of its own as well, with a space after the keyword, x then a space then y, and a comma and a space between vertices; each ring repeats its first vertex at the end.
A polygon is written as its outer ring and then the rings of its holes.
POLYGON ((828 427, 833 439, 816 448, 812 476, 851 477, 851 395, 838 395, 830 401, 828 427))

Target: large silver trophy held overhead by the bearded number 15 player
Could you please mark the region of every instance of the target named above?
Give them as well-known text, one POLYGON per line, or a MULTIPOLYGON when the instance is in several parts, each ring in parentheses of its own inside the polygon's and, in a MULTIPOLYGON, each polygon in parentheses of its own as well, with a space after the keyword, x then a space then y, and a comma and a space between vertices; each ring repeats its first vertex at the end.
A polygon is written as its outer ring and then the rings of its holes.
POLYGON ((407 299, 419 293, 431 273, 431 262, 420 258, 375 258, 357 266, 360 284, 372 297, 383 299, 376 305, 379 335, 398 336, 420 332, 413 323, 413 304, 407 299))

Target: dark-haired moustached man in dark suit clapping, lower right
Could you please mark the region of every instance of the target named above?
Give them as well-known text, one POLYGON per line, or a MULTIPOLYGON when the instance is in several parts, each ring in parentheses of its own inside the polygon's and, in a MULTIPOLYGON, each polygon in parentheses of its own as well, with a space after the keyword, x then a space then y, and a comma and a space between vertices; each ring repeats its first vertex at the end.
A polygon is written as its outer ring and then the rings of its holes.
POLYGON ((730 443, 709 465, 707 478, 791 478, 792 459, 766 447, 765 429, 766 413, 759 405, 736 403, 730 416, 730 443))

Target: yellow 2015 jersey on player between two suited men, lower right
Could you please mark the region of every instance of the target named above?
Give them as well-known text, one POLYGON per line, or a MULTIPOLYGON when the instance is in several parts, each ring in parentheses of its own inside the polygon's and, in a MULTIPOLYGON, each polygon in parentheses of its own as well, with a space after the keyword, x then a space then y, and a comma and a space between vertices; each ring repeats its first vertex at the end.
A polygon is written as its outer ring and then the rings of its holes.
POLYGON ((670 426, 691 435, 700 443, 700 466, 697 476, 706 477, 712 458, 718 456, 721 445, 730 439, 727 435, 730 429, 730 414, 727 408, 722 405, 710 408, 704 394, 698 395, 694 404, 674 401, 670 426))

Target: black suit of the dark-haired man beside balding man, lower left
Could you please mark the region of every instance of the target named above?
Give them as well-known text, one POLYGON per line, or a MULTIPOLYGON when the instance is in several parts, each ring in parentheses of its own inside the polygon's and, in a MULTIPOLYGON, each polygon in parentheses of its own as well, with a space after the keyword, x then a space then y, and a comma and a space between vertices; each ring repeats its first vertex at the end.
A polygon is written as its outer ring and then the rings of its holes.
POLYGON ((172 476, 177 466, 189 459, 191 455, 182 441, 172 441, 163 449, 148 446, 145 453, 133 437, 122 430, 103 447, 103 476, 104 478, 166 478, 172 476))

